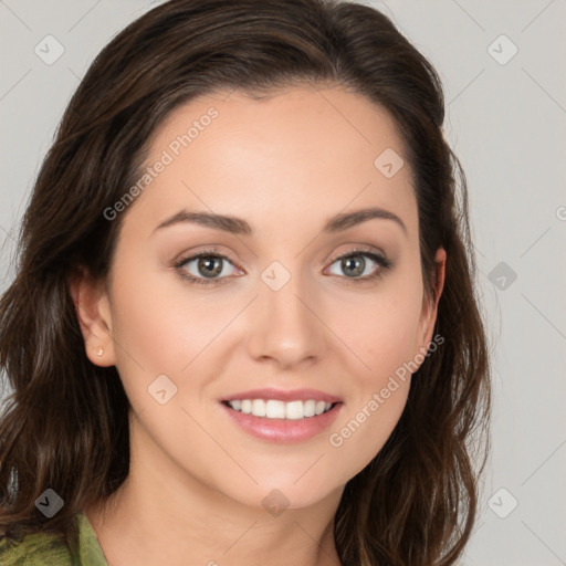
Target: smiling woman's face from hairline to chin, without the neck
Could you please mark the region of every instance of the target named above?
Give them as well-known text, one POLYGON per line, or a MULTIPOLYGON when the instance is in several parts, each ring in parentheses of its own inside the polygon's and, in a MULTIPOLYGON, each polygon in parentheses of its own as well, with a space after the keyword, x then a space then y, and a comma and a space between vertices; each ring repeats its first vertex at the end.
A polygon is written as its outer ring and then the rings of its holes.
POLYGON ((159 128, 143 190, 106 213, 113 339, 88 343, 119 371, 147 478, 303 507, 379 452, 436 318, 402 159, 388 114, 338 87, 200 97, 159 128))

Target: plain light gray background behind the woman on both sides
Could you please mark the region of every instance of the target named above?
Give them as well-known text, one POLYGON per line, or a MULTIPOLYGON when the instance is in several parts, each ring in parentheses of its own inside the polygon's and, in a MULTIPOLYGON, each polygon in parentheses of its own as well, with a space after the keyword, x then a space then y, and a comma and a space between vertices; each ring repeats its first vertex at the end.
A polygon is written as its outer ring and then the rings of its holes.
MULTIPOLYGON (((0 291, 13 277, 19 222, 80 77, 156 3, 0 0, 0 291), (56 53, 48 34, 64 48, 51 65, 34 52, 56 53)), ((461 564, 566 564, 566 1, 365 3, 390 15, 439 71, 446 135, 469 181, 494 413, 480 517, 461 564)))

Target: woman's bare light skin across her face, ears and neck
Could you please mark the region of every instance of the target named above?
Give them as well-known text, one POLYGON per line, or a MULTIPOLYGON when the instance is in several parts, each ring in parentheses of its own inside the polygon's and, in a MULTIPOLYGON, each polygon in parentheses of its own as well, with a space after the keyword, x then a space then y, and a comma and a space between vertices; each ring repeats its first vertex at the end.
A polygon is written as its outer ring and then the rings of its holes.
MULTIPOLYGON (((87 356, 116 366, 133 406, 128 479, 105 509, 85 510, 114 566, 339 564, 340 495, 394 430, 410 375, 339 448, 329 436, 432 339, 438 298, 424 301, 409 166, 387 178, 374 165, 387 148, 403 155, 389 115, 336 85, 260 101, 227 94, 193 99, 160 126, 148 165, 210 106, 219 113, 122 212, 108 280, 71 285, 87 356), (332 217, 369 207, 405 229, 374 218, 323 231, 332 217), (156 230, 184 209, 238 217, 253 232, 156 230), (175 270, 212 245, 229 258, 221 284, 191 284, 175 270), (392 266, 353 252, 360 247, 392 266), (347 254, 365 266, 335 260, 347 254), (279 291, 261 277, 275 261, 291 276, 279 291), (164 374, 177 394, 160 405, 147 388, 164 374), (310 440, 260 440, 220 400, 269 386, 319 389, 343 406, 310 440), (279 516, 262 505, 275 489, 290 502, 279 516)), ((440 296, 442 249, 436 261, 440 296)), ((181 270, 207 279, 198 260, 181 270)))

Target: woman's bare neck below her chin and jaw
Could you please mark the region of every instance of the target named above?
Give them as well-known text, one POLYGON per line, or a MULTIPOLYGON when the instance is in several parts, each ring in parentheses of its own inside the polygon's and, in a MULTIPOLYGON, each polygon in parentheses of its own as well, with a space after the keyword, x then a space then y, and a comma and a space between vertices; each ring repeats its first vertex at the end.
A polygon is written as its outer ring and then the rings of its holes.
POLYGON ((342 488, 308 507, 272 514, 143 454, 133 450, 129 475, 112 497, 85 509, 108 564, 249 566, 250 556, 272 566, 340 564, 334 515, 342 488))

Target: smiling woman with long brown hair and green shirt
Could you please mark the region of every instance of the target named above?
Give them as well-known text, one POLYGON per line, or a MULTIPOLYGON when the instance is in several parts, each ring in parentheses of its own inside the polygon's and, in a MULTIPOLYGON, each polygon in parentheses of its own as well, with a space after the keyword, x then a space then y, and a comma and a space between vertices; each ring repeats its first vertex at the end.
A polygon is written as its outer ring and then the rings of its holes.
POLYGON ((443 117, 349 2, 171 0, 102 51, 0 303, 2 564, 455 564, 490 384, 443 117))

